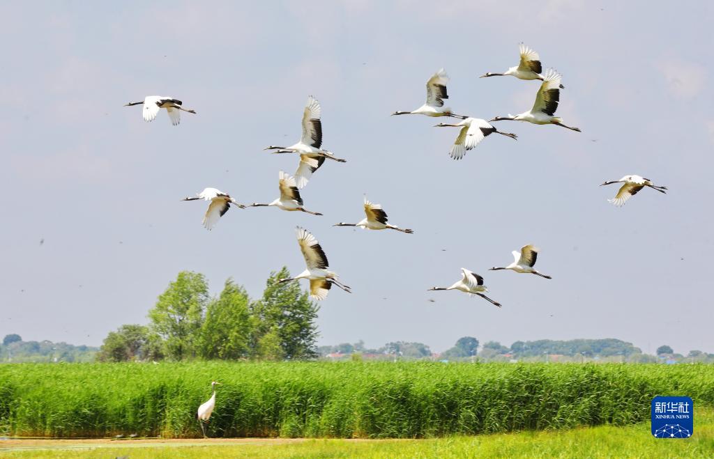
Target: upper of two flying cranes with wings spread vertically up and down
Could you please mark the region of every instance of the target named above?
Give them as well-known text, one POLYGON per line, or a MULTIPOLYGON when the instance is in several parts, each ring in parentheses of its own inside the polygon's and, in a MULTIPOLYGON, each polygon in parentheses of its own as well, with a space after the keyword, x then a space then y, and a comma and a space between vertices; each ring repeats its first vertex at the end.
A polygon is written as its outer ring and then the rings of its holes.
POLYGON ((303 110, 303 135, 300 141, 289 147, 270 145, 264 150, 276 150, 273 153, 299 153, 300 164, 295 171, 298 189, 303 189, 308 184, 313 172, 318 170, 325 159, 346 163, 347 160, 335 158, 331 152, 322 150, 322 121, 320 103, 313 96, 308 97, 308 103, 303 110))

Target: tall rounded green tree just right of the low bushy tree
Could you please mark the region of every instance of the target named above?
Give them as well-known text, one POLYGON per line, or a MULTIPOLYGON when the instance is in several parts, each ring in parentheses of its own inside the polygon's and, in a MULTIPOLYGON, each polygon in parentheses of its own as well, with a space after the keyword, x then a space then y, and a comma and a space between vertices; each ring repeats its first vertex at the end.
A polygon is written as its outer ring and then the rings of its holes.
POLYGON ((183 360, 196 356, 208 284, 203 274, 182 271, 149 311, 151 329, 164 340, 166 356, 183 360))

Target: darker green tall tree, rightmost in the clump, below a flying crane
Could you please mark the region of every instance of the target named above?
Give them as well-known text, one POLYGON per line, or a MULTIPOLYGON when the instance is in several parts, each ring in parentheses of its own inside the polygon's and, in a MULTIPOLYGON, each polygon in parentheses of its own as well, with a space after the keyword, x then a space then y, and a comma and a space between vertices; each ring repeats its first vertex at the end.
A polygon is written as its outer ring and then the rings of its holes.
POLYGON ((263 355, 267 344, 277 336, 284 359, 311 359, 317 356, 315 319, 318 306, 310 301, 298 282, 278 284, 278 279, 286 277, 290 277, 286 267, 271 272, 263 297, 251 304, 251 313, 256 320, 253 356, 263 355))

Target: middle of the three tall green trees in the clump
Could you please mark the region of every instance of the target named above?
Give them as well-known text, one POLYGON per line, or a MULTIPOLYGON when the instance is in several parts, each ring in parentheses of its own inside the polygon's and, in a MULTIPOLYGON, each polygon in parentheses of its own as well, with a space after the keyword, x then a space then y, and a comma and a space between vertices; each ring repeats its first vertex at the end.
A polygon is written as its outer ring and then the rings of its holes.
POLYGON ((249 304, 246 290, 233 279, 226 280, 221 295, 206 307, 200 346, 204 359, 248 357, 255 328, 249 304))

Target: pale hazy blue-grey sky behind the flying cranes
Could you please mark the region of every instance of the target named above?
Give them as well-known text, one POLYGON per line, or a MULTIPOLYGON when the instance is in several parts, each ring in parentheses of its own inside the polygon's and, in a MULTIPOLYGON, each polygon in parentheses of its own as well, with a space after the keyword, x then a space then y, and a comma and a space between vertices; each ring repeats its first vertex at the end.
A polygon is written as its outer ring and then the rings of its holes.
MULTIPOLYGON (((353 294, 321 302, 320 344, 618 338, 653 352, 714 352, 711 282, 714 4, 648 1, 0 3, 0 336, 99 345, 146 323, 189 269, 217 293, 227 277, 261 294, 273 269, 304 268, 294 228, 316 235, 353 294), (461 161, 445 118, 390 117, 423 103, 445 67, 448 104, 490 119, 531 108, 538 82, 479 79, 518 62, 518 43, 563 75, 557 126, 503 121, 461 161), (148 95, 197 115, 153 123, 148 95), (324 217, 231 210, 213 231, 203 202, 278 195, 321 101, 326 163, 303 199, 324 217), (623 208, 605 180, 638 174, 623 208), (362 199, 416 234, 331 227, 362 199), (44 244, 39 244, 44 238, 44 244), (523 244, 553 280, 488 272, 523 244), (482 274, 498 309, 427 292, 482 274), (436 300, 435 302, 428 301, 436 300)), ((303 284, 303 286, 306 284, 303 284)))

